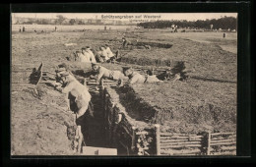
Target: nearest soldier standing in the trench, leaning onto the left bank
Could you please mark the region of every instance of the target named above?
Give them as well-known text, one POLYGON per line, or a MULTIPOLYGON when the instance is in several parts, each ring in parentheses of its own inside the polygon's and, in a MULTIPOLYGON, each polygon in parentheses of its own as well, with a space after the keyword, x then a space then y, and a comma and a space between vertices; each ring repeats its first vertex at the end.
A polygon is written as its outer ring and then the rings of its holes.
POLYGON ((61 74, 61 81, 65 86, 64 88, 58 87, 58 90, 66 93, 68 109, 76 113, 76 124, 78 126, 76 138, 78 139, 78 152, 81 152, 82 142, 84 139, 81 127, 83 127, 85 122, 86 111, 88 109, 92 109, 89 107, 92 105, 92 103, 90 103, 92 96, 89 93, 88 87, 79 83, 74 76, 68 72, 61 74))

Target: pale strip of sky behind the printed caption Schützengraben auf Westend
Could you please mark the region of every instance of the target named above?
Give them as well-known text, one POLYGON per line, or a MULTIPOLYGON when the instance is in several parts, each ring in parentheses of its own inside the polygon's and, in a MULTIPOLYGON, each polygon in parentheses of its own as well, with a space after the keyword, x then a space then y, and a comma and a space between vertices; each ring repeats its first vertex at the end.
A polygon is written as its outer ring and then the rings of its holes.
POLYGON ((151 16, 152 20, 206 20, 220 19, 226 17, 236 17, 237 13, 12 13, 12 17, 21 18, 44 18, 56 19, 57 15, 62 15, 68 19, 110 19, 110 20, 139 20, 149 19, 146 16, 151 16), (141 17, 140 17, 141 16, 141 17))

